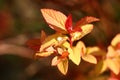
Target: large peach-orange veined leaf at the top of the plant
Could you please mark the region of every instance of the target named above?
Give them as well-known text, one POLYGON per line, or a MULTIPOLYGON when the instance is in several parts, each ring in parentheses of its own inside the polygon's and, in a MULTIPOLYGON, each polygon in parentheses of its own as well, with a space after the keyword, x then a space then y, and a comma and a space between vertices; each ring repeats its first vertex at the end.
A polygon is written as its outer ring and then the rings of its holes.
POLYGON ((66 31, 65 21, 67 17, 63 13, 53 9, 41 9, 41 12, 45 21, 52 29, 58 32, 66 31))

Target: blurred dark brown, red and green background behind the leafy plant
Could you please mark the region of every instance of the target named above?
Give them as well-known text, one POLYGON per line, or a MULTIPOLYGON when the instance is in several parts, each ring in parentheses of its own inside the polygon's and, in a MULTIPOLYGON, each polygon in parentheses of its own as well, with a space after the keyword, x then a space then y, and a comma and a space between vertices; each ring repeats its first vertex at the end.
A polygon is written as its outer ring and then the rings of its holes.
POLYGON ((0 80, 86 80, 85 75, 89 77, 93 68, 88 63, 76 67, 70 62, 69 72, 63 76, 50 66, 50 58, 31 58, 34 52, 25 42, 39 38, 41 30, 48 35, 54 33, 45 23, 41 8, 72 14, 73 22, 85 16, 99 18, 94 30, 82 38, 87 46, 106 49, 120 33, 120 0, 0 0, 0 80))

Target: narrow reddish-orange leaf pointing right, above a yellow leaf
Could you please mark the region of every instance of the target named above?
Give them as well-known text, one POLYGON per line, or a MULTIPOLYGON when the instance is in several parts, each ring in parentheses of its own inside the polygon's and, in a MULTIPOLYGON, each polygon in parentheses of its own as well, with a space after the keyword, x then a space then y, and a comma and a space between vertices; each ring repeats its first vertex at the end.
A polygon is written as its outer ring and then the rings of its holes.
POLYGON ((80 21, 78 21, 76 23, 75 27, 82 26, 82 25, 85 25, 85 24, 89 24, 89 23, 95 22, 95 21, 99 21, 99 19, 95 18, 95 17, 92 17, 92 16, 87 16, 87 17, 82 18, 80 21))

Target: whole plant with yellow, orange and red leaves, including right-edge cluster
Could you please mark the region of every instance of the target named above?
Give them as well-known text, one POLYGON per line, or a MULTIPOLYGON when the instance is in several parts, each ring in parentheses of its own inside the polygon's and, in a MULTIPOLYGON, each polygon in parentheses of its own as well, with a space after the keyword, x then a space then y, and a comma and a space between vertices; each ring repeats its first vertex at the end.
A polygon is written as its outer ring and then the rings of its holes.
POLYGON ((96 64, 95 71, 98 74, 107 69, 119 74, 120 35, 112 40, 107 52, 97 46, 86 47, 80 39, 93 30, 92 22, 99 21, 98 18, 87 16, 73 25, 71 14, 66 16, 53 9, 41 9, 40 11, 48 26, 55 30, 55 33, 47 36, 44 31, 41 31, 40 39, 28 41, 29 47, 36 51, 34 55, 36 58, 54 56, 51 60, 51 66, 57 66, 58 70, 64 75, 68 71, 69 60, 79 65, 81 59, 96 64), (76 41, 76 45, 73 45, 76 41), (93 54, 104 58, 97 62, 97 58, 93 54))

